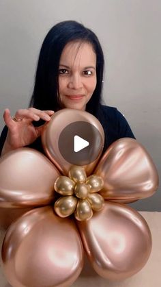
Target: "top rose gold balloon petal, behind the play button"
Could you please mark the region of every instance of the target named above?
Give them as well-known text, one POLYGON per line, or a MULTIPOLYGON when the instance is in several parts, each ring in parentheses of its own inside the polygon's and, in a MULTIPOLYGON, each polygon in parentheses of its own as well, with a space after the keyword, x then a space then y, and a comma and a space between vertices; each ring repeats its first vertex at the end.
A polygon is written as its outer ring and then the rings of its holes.
POLYGON ((42 133, 42 145, 50 160, 63 175, 70 167, 84 166, 87 175, 96 166, 104 147, 104 130, 98 119, 88 112, 62 109, 55 112, 42 133), (84 125, 87 125, 85 128, 84 125), (74 151, 74 136, 89 142, 89 146, 74 151))

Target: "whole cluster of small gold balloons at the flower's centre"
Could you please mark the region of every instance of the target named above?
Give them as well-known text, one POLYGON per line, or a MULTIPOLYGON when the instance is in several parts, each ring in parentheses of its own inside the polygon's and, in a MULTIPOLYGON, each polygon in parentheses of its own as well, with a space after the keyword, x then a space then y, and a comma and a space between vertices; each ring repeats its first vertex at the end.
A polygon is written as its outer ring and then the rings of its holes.
POLYGON ((89 220, 93 216, 92 209, 99 211, 104 206, 103 197, 94 193, 102 189, 103 179, 98 175, 87 178, 82 166, 72 166, 68 175, 61 175, 55 182, 55 190, 64 196, 55 202, 55 212, 61 217, 74 212, 78 221, 89 220))

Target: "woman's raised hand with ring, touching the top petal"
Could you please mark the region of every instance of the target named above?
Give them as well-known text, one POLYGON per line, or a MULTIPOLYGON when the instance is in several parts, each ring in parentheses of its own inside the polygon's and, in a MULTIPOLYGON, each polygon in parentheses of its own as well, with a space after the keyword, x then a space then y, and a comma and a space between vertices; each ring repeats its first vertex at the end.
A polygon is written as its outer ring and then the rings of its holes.
POLYGON ((5 125, 8 126, 8 135, 2 149, 2 155, 34 142, 42 134, 45 124, 40 127, 34 127, 32 122, 40 119, 48 122, 53 114, 54 111, 52 110, 41 111, 35 108, 18 110, 14 116, 17 120, 15 121, 10 115, 10 110, 5 109, 3 118, 5 125))

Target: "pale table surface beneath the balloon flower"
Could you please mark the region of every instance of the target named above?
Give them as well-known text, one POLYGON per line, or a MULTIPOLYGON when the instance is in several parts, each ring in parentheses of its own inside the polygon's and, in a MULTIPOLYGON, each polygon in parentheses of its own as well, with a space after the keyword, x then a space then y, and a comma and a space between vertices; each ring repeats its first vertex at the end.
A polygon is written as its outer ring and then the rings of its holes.
MULTIPOLYGON (((72 287, 160 287, 161 286, 161 212, 140 212, 147 221, 152 234, 153 247, 151 255, 144 268, 136 275, 119 282, 103 279, 90 266, 85 259, 81 275, 72 287)), ((0 230, 2 244, 5 231, 0 230)), ((3 275, 0 266, 0 287, 11 287, 3 275)), ((30 286, 29 286, 30 287, 30 286)))

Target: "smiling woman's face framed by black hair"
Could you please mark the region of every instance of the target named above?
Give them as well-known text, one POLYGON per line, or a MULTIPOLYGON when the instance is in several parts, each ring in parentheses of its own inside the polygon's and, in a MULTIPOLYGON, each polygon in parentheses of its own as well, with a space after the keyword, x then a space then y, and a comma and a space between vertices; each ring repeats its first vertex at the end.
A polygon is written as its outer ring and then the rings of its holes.
POLYGON ((59 63, 59 95, 64 108, 85 110, 96 88, 96 53, 88 42, 69 42, 59 63))

